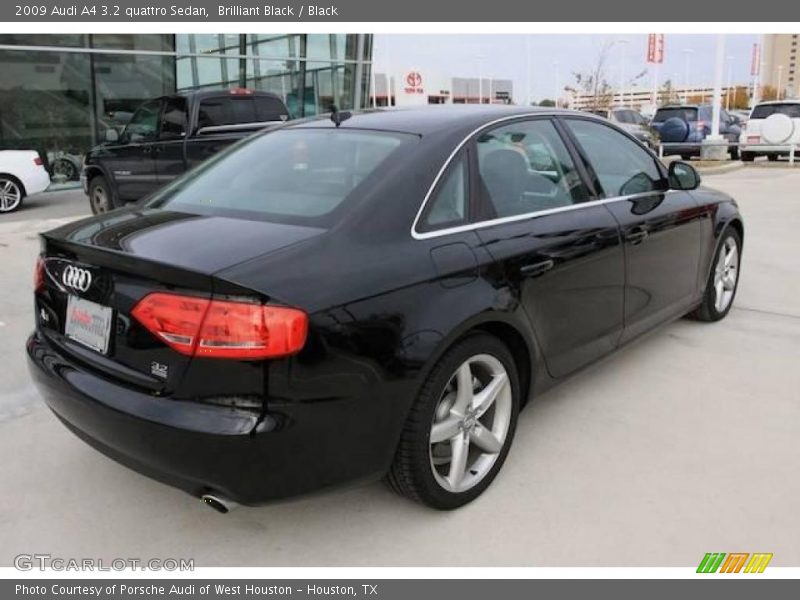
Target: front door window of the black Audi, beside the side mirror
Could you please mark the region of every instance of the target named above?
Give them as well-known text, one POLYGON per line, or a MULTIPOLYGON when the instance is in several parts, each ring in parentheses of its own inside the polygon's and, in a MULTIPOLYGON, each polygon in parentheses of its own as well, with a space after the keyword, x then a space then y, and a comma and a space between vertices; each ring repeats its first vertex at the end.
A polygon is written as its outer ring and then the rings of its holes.
POLYGON ((607 198, 666 189, 655 158, 623 133, 592 121, 567 119, 607 198))

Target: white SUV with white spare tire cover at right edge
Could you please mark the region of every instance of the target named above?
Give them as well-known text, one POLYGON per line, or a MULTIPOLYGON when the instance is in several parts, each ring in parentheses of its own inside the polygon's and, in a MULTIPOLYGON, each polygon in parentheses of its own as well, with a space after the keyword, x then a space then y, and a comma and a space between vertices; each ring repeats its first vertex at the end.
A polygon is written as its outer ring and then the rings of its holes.
POLYGON ((740 141, 745 162, 752 162, 756 156, 778 160, 779 156, 789 155, 790 146, 800 157, 800 100, 757 104, 740 141))

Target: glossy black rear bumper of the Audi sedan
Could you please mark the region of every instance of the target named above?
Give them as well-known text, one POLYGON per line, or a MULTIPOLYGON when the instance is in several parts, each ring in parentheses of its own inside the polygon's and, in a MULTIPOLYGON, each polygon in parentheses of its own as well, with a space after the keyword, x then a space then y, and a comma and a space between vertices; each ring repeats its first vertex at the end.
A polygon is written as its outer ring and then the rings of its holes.
POLYGON ((264 416, 123 387, 71 361, 38 332, 27 353, 34 383, 70 430, 194 496, 215 492, 253 505, 377 479, 393 453, 395 442, 386 437, 352 435, 357 425, 353 407, 342 406, 347 400, 264 416))

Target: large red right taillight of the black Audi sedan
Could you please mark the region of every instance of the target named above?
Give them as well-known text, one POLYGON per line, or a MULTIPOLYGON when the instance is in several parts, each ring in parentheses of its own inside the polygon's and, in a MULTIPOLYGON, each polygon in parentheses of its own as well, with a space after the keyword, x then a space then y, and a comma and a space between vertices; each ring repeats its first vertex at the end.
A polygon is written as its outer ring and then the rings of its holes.
POLYGON ((153 335, 187 356, 263 359, 299 352, 308 316, 296 308, 153 293, 131 314, 153 335))

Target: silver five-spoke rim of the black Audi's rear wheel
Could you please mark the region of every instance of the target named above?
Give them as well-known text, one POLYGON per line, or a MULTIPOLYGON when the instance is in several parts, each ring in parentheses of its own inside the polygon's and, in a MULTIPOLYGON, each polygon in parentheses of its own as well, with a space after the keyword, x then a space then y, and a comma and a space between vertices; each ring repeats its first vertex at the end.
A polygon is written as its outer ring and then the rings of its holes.
POLYGON ((449 492, 464 492, 489 473, 511 424, 511 384, 503 363, 477 354, 456 369, 436 407, 431 469, 449 492))

